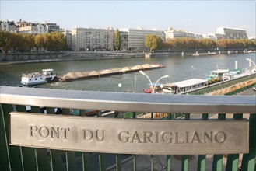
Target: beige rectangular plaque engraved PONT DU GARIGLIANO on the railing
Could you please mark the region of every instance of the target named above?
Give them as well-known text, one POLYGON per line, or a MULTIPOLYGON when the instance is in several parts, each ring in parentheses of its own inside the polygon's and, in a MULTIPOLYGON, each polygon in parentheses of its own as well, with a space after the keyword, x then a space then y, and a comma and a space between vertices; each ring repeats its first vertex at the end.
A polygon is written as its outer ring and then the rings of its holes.
POLYGON ((122 154, 248 152, 248 120, 124 120, 9 113, 9 144, 122 154))

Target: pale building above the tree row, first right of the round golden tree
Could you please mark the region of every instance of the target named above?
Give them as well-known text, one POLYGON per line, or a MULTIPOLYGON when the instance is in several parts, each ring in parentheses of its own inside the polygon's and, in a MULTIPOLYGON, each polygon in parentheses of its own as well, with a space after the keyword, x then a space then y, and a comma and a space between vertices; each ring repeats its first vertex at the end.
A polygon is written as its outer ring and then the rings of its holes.
POLYGON ((195 33, 186 32, 183 30, 174 30, 171 27, 169 27, 164 33, 166 35, 166 40, 183 37, 188 37, 192 39, 196 38, 195 33))

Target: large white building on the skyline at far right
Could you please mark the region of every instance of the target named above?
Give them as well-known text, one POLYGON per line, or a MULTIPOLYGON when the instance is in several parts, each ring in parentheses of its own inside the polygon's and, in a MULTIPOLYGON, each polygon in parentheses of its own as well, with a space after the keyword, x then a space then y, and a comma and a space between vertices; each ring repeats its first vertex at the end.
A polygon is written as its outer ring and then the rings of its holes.
POLYGON ((247 39, 246 30, 230 28, 230 27, 218 27, 217 33, 223 35, 224 39, 247 39))

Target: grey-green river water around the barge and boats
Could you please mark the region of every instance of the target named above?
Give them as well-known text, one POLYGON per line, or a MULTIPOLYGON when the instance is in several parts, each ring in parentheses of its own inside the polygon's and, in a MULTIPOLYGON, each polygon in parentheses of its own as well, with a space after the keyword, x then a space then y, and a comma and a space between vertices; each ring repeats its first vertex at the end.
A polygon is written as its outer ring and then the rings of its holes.
MULTIPOLYGON (((44 68, 53 68, 58 74, 63 75, 68 72, 86 72, 108 68, 121 68, 126 66, 143 65, 143 64, 162 64, 165 68, 145 71, 146 75, 152 82, 163 75, 170 75, 167 79, 161 79, 160 83, 177 82, 184 79, 205 79, 205 75, 209 71, 216 68, 235 68, 235 61, 238 68, 243 70, 248 68, 251 58, 255 61, 255 54, 216 54, 190 56, 170 55, 161 56, 150 59, 145 58, 123 58, 123 59, 103 59, 91 61, 59 61, 47 63, 19 64, 19 65, 1 65, 0 81, 1 85, 19 86, 23 73, 40 72, 44 68), (193 68, 193 67, 194 68, 193 68)), ((73 82, 52 82, 44 85, 38 85, 38 88, 52 89, 83 89, 88 91, 104 91, 104 92, 142 92, 147 89, 149 80, 145 75, 139 72, 132 72, 123 75, 112 75, 107 77, 85 79, 73 82), (118 84, 121 83, 121 88, 118 84)))

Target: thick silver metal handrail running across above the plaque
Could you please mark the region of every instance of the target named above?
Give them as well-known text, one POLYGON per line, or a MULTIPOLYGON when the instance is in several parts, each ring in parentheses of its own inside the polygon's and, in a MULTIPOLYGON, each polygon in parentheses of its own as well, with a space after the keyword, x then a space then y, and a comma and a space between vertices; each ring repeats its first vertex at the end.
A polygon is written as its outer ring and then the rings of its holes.
POLYGON ((167 95, 0 87, 0 103, 163 113, 256 113, 255 96, 167 95))

